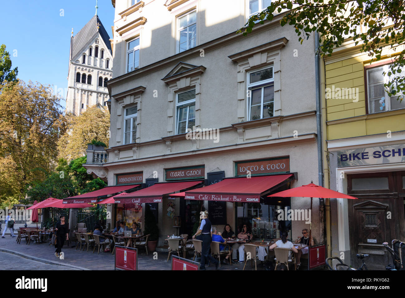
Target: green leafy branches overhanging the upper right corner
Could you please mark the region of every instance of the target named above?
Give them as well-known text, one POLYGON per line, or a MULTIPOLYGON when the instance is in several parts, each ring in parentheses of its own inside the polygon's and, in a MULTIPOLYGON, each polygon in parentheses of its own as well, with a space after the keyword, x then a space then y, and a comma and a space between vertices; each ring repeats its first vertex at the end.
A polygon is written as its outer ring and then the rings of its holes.
POLYGON ((368 53, 371 62, 380 60, 383 49, 389 46, 395 57, 387 73, 388 95, 405 93, 405 74, 401 70, 405 64, 404 0, 275 0, 250 17, 238 32, 246 36, 257 23, 264 24, 265 19, 272 20, 282 12, 281 26, 294 26, 301 43, 311 32, 319 32, 321 56, 330 56, 347 38, 356 45, 361 43, 360 51, 368 53))

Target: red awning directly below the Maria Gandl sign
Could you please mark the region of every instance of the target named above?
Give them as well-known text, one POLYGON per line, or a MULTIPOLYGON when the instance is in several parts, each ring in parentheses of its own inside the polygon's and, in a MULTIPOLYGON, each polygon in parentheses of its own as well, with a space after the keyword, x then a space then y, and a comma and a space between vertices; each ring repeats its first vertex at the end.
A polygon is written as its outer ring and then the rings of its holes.
POLYGON ((162 202, 162 196, 177 193, 184 189, 189 189, 190 187, 194 187, 201 182, 203 181, 155 183, 150 187, 141 189, 140 191, 116 197, 115 203, 160 203, 162 202))

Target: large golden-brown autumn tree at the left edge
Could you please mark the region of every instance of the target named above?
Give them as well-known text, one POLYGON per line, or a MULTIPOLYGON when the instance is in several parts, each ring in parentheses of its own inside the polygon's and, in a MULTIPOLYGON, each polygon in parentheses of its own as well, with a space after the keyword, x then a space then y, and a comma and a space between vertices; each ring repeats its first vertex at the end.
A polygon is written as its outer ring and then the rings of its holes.
POLYGON ((50 86, 3 81, 0 93, 0 200, 21 199, 26 187, 55 167, 65 119, 50 86))

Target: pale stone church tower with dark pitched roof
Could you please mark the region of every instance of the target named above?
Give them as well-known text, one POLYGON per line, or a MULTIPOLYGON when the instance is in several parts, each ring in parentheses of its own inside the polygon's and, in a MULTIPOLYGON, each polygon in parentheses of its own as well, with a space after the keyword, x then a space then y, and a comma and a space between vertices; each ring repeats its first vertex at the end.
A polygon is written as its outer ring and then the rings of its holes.
POLYGON ((70 37, 66 113, 83 114, 92 105, 107 108, 107 81, 113 75, 109 34, 96 15, 70 37))

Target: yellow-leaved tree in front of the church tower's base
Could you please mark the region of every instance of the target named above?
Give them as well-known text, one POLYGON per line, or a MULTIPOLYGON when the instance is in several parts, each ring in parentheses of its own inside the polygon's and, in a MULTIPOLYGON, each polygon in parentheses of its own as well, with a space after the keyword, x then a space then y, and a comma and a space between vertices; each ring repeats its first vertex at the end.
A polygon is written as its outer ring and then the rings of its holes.
POLYGON ((68 161, 83 157, 92 140, 109 142, 110 113, 108 109, 89 107, 80 116, 67 115, 68 130, 58 141, 59 157, 68 161))

